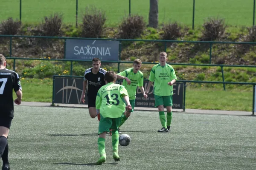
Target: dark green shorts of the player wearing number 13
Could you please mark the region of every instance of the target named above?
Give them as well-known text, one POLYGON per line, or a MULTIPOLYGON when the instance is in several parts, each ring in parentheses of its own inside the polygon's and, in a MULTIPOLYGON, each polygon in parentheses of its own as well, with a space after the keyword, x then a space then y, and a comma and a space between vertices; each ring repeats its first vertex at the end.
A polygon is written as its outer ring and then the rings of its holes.
POLYGON ((103 133, 103 132, 110 132, 109 129, 114 129, 114 130, 118 130, 118 127, 121 123, 121 117, 119 118, 109 118, 109 117, 102 117, 102 115, 100 115, 101 119, 99 121, 99 132, 103 133))

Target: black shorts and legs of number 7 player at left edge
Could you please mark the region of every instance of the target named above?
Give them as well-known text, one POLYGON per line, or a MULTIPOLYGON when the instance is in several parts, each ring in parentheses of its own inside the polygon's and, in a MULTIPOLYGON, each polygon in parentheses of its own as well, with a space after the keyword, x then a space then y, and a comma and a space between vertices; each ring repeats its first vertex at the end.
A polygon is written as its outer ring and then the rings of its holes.
POLYGON ((8 152, 9 146, 7 137, 11 127, 12 118, 0 118, 0 156, 3 160, 3 170, 9 170, 8 152))

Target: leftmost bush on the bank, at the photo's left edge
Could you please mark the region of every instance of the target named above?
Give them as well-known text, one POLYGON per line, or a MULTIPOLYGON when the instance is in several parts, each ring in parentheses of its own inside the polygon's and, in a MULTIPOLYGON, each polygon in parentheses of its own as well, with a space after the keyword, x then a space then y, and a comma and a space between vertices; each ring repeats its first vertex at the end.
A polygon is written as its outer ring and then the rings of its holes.
POLYGON ((20 21, 14 21, 12 17, 8 18, 7 20, 3 20, 0 25, 0 34, 2 35, 15 35, 20 31, 20 21))

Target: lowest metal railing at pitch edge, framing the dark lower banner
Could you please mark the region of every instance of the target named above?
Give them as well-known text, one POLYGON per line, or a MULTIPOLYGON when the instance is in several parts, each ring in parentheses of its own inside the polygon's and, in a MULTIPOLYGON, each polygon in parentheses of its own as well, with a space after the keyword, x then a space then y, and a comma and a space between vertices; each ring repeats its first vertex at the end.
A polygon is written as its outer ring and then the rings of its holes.
MULTIPOLYGON (((53 75, 53 82, 52 82, 52 105, 54 105, 55 99, 55 77, 69 77, 69 78, 83 78, 82 76, 59 76, 53 75)), ((144 79, 148 80, 148 79, 144 79)), ((177 80, 176 82, 183 82, 184 89, 183 89, 183 111, 186 110, 186 84, 187 83, 211 83, 211 84, 222 84, 223 82, 210 82, 210 81, 193 81, 193 80, 177 80)), ((255 111, 255 87, 256 83, 252 82, 224 82, 225 84, 232 84, 232 85, 253 85, 253 108, 252 108, 252 115, 254 115, 255 111)), ((175 100, 175 99, 174 99, 175 100)))

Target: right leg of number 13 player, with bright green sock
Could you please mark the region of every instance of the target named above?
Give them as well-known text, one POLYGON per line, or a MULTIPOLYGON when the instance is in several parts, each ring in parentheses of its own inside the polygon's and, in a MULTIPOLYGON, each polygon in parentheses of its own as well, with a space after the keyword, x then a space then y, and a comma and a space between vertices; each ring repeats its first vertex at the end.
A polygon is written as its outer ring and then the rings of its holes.
POLYGON ((118 138, 119 138, 119 134, 118 134, 118 126, 120 125, 121 122, 121 117, 119 118, 114 118, 113 119, 113 123, 111 126, 112 129, 112 151, 113 151, 113 159, 115 161, 120 161, 120 157, 118 155, 118 138))

